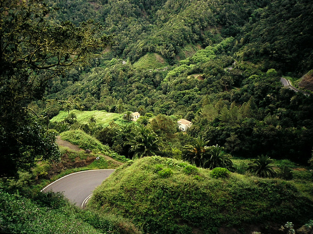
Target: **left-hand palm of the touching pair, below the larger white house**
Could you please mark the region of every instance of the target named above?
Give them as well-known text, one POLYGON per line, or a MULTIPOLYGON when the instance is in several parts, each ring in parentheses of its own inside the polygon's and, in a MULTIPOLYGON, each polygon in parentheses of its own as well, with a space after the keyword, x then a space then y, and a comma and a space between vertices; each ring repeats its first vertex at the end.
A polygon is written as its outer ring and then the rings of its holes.
POLYGON ((196 138, 190 144, 183 147, 182 158, 196 164, 197 167, 203 167, 209 150, 208 143, 208 140, 204 140, 201 137, 196 138))

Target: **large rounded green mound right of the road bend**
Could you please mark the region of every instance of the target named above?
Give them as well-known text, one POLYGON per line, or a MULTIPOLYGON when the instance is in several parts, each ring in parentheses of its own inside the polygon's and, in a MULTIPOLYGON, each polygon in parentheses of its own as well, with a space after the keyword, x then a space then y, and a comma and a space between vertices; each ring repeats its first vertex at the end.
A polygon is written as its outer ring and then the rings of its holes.
POLYGON ((313 217, 312 200, 284 180, 238 174, 215 179, 210 173, 175 159, 145 157, 112 174, 89 207, 133 219, 151 234, 268 233, 313 217))

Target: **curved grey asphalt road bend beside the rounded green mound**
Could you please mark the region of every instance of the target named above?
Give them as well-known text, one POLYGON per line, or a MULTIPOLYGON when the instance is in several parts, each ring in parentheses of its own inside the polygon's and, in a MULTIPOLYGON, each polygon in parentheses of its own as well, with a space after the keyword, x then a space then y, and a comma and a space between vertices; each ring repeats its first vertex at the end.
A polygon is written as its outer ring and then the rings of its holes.
POLYGON ((84 208, 92 195, 92 191, 114 171, 113 169, 103 169, 69 174, 46 186, 42 192, 49 190, 64 192, 64 195, 71 202, 76 206, 84 208))

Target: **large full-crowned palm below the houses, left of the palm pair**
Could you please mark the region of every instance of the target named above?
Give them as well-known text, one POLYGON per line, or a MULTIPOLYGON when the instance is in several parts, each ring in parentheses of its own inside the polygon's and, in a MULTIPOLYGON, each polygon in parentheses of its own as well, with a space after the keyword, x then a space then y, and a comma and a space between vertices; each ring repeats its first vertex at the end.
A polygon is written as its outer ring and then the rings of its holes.
POLYGON ((125 145, 131 146, 129 152, 134 153, 133 158, 153 156, 158 150, 157 135, 143 125, 135 126, 127 139, 125 145))

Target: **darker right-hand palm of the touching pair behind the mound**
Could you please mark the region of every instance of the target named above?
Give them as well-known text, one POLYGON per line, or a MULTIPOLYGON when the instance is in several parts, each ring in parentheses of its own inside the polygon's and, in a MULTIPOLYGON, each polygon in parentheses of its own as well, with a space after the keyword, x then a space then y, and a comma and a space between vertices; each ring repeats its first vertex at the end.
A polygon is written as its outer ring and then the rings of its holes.
POLYGON ((209 147, 208 158, 204 163, 205 168, 213 169, 216 167, 224 167, 228 170, 233 169, 231 155, 224 152, 224 147, 213 145, 209 147))

